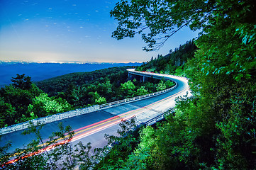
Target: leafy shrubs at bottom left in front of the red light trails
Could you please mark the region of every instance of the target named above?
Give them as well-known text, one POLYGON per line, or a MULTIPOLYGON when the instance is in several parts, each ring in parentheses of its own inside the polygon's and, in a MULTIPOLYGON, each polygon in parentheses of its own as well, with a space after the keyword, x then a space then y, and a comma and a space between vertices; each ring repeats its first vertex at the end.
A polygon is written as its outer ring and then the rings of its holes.
POLYGON ((53 132, 47 142, 43 142, 40 134, 41 128, 43 125, 30 123, 30 127, 23 132, 23 135, 33 133, 36 139, 24 149, 16 149, 15 152, 9 153, 11 143, 6 143, 4 147, 1 147, 0 169, 75 169, 79 167, 79 169, 87 170, 94 166, 96 160, 90 157, 90 143, 83 145, 82 142, 78 142, 72 145, 71 139, 74 131, 70 126, 64 127, 60 123, 59 131, 53 132), (52 149, 49 151, 45 149, 46 147, 52 147, 52 149), (29 157, 28 154, 30 154, 29 157), (16 159, 16 162, 7 164, 10 157, 16 159))

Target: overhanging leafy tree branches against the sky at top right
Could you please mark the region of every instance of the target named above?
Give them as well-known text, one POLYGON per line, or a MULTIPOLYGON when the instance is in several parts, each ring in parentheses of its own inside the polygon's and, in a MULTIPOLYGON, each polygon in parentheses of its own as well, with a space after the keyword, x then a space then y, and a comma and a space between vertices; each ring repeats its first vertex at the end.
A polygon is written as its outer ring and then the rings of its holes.
POLYGON ((141 34, 148 43, 144 50, 158 49, 184 26, 208 33, 216 22, 252 23, 256 17, 253 0, 121 0, 111 16, 118 21, 113 38, 121 40, 141 34))

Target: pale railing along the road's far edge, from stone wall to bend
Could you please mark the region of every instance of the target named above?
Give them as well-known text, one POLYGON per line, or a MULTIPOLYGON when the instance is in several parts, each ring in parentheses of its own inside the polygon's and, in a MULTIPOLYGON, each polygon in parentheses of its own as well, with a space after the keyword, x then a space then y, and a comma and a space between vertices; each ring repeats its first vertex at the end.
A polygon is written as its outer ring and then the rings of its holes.
POLYGON ((169 89, 165 89, 165 90, 162 90, 162 91, 157 91, 157 92, 152 93, 152 94, 145 94, 143 96, 136 96, 136 97, 133 97, 133 98, 126 98, 126 99, 123 99, 123 100, 120 100, 120 101, 113 101, 111 103, 101 104, 101 105, 99 105, 99 108, 106 108, 106 107, 110 107, 110 106, 118 106, 120 104, 132 102, 132 101, 138 101, 138 100, 141 100, 143 98, 150 98, 150 97, 153 97, 153 96, 164 94, 168 91, 172 91, 173 89, 176 89, 176 88, 177 88, 177 83, 175 82, 175 85, 172 86, 169 89))

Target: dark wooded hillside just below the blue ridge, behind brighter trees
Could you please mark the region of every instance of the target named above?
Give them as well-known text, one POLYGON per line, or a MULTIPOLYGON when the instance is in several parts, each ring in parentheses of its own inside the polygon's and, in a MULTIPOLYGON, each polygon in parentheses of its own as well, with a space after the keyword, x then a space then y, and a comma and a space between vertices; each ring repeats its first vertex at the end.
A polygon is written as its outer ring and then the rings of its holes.
MULTIPOLYGON (((69 88, 74 89, 74 87, 83 86, 84 84, 93 84, 98 86, 98 84, 106 84, 107 81, 110 81, 113 86, 118 87, 121 83, 126 81, 128 77, 126 69, 128 68, 131 67, 112 67, 96 70, 94 72, 76 72, 52 79, 38 81, 36 84, 49 96, 56 96, 59 92, 65 92, 68 91, 69 88)), ((101 85, 99 85, 99 89, 101 88, 100 86, 101 85)), ((106 90, 106 92, 107 91, 108 90, 106 90)), ((99 91, 99 93, 101 93, 101 91, 99 91)))

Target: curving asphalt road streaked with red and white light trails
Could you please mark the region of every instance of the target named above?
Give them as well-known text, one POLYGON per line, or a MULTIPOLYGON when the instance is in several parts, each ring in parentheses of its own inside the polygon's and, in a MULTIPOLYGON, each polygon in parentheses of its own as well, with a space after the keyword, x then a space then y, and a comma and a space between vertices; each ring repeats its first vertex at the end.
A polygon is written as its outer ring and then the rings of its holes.
MULTIPOLYGON (((175 106, 175 98, 184 96, 189 92, 187 79, 180 77, 171 78, 177 82, 177 88, 165 94, 47 123, 40 130, 40 134, 44 142, 46 142, 52 132, 58 130, 58 124, 62 122, 65 126, 71 125, 72 130, 74 130, 73 144, 82 141, 84 145, 91 142, 92 148, 104 147, 106 145, 104 135, 116 135, 116 131, 119 128, 118 124, 121 123, 122 119, 136 116, 138 124, 145 123, 157 115, 168 111, 169 108, 173 108, 175 106)), ((24 145, 28 145, 28 143, 35 139, 35 135, 21 135, 21 132, 23 130, 1 135, 0 146, 3 146, 7 141, 11 141, 12 147, 9 150, 11 152, 16 148, 23 148, 24 145)))

